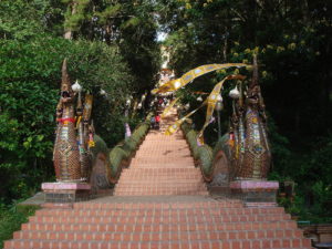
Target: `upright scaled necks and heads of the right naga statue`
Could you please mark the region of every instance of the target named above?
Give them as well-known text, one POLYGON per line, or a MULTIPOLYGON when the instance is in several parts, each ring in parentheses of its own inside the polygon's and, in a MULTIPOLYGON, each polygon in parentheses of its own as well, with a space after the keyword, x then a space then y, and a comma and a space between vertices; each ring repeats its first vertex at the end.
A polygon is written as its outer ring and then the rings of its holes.
POLYGON ((229 132, 218 143, 212 163, 212 175, 224 172, 228 180, 266 179, 270 169, 271 151, 267 135, 264 103, 258 84, 257 58, 247 93, 239 84, 230 92, 234 98, 229 132), (217 169, 219 168, 219 169, 217 169), (220 168, 224 168, 220 170, 220 168))

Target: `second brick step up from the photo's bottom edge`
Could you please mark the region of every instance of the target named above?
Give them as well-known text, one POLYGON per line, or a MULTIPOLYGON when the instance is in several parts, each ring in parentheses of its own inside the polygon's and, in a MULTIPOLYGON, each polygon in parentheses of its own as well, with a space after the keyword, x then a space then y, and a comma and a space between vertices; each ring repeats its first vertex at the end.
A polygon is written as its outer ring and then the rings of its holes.
POLYGON ((180 241, 180 240, 255 240, 255 239, 302 238, 299 229, 242 230, 242 231, 184 231, 170 232, 86 232, 86 231, 17 231, 13 239, 40 240, 89 240, 89 241, 180 241))

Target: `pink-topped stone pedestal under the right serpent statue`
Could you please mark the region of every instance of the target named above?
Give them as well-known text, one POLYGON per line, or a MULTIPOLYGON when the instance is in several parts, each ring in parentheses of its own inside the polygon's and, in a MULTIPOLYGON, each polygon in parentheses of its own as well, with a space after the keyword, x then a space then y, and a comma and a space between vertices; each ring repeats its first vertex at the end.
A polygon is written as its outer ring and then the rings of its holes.
POLYGON ((234 180, 229 185, 231 196, 242 199, 248 207, 277 205, 279 183, 272 180, 234 180))

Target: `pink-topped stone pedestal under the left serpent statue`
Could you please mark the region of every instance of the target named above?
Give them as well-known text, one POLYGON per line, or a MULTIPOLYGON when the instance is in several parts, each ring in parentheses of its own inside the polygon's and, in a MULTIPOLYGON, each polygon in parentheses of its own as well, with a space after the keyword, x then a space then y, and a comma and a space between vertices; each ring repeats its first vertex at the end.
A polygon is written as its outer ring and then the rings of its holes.
POLYGON ((73 204, 91 197, 91 186, 85 183, 43 183, 45 203, 73 204))

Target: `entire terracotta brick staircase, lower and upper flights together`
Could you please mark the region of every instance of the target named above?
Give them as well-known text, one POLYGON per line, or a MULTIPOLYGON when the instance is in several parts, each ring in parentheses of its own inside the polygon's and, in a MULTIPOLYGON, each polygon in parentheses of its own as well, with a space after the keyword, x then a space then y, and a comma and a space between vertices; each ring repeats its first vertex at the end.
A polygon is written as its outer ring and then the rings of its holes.
POLYGON ((114 196, 40 209, 4 248, 311 248, 283 208, 207 194, 181 134, 152 131, 114 196))

